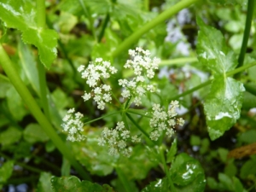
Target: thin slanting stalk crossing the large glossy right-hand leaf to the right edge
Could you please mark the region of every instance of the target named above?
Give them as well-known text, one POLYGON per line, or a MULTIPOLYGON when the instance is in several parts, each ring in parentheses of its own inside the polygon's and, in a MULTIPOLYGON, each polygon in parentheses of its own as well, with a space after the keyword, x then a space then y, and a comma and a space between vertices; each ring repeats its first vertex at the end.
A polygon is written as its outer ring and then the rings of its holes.
MULTIPOLYGON (((236 68, 233 71, 230 71, 230 72, 226 73, 226 76, 230 77, 230 76, 232 76, 232 75, 234 75, 236 73, 241 73, 242 71, 246 70, 247 68, 250 68, 250 67, 253 67, 253 66, 256 66, 256 62, 252 62, 252 63, 250 63, 248 65, 236 68)), ((180 98, 182 96, 187 96, 190 93, 193 93, 195 90, 200 90, 201 88, 203 88, 203 87, 205 87, 205 86, 207 86, 207 85, 209 85, 211 83, 212 83, 212 79, 207 80, 205 83, 199 84, 198 86, 195 86, 194 88, 192 88, 190 90, 184 91, 182 94, 179 94, 177 96, 172 96, 169 99, 169 101, 177 100, 178 98, 180 98)))

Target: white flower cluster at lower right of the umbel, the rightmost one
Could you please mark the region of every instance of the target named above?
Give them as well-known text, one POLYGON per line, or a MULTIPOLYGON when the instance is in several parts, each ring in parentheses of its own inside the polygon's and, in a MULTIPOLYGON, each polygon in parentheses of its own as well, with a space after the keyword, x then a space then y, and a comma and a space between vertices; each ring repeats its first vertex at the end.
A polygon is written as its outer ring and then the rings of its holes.
POLYGON ((184 120, 182 118, 176 119, 176 108, 178 108, 178 102, 172 101, 170 108, 166 112, 163 108, 160 108, 160 104, 153 105, 153 118, 150 119, 149 125, 153 128, 153 131, 150 133, 150 138, 154 141, 157 141, 163 131, 166 131, 168 137, 172 137, 174 133, 175 125, 183 125, 184 120))

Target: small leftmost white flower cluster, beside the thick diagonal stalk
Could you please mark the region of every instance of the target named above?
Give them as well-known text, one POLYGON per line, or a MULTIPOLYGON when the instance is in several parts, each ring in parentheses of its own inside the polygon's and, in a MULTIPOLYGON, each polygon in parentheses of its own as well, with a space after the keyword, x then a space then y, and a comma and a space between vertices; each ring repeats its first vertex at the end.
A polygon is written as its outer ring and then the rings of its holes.
POLYGON ((62 119, 64 123, 61 126, 63 127, 64 131, 68 132, 67 140, 70 140, 72 142, 80 142, 86 138, 81 133, 82 131, 84 131, 84 124, 81 121, 84 115, 79 112, 74 112, 74 108, 71 108, 67 111, 67 114, 62 119))

